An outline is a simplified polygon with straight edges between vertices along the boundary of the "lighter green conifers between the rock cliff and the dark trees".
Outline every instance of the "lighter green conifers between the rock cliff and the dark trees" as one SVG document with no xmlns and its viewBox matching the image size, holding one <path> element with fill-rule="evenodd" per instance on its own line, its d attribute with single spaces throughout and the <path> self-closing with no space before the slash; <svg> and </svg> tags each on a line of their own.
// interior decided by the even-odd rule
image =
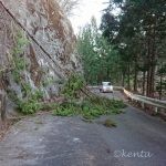
<svg viewBox="0 0 166 166">
<path fill-rule="evenodd" d="M 117 82 L 120 79 L 118 52 L 101 35 L 94 22 L 80 31 L 77 51 L 81 54 L 84 77 L 89 84 L 97 84 L 103 80 Z"/>
</svg>

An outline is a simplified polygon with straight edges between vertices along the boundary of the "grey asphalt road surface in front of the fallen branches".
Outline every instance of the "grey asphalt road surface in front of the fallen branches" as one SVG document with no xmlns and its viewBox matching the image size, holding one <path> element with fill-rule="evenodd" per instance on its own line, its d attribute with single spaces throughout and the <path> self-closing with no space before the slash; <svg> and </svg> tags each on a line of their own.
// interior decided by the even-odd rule
<svg viewBox="0 0 166 166">
<path fill-rule="evenodd" d="M 114 128 L 100 123 L 104 116 L 92 124 L 49 113 L 22 120 L 0 142 L 0 166 L 166 166 L 166 123 L 125 112 L 110 116 Z"/>
</svg>

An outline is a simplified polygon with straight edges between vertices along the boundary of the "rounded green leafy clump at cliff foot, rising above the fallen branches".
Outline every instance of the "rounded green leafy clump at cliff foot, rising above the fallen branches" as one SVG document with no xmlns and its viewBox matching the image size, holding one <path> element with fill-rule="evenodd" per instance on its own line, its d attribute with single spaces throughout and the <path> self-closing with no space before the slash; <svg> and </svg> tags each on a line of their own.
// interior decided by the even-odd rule
<svg viewBox="0 0 166 166">
<path fill-rule="evenodd" d="M 64 83 L 62 94 L 68 98 L 77 97 L 79 91 L 85 85 L 84 77 L 77 73 L 72 74 Z"/>
</svg>

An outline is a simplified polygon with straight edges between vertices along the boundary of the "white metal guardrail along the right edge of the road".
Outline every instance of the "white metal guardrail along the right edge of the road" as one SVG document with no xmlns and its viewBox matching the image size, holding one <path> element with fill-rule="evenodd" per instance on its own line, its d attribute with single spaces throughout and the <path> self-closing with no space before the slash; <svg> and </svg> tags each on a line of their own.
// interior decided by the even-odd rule
<svg viewBox="0 0 166 166">
<path fill-rule="evenodd" d="M 90 89 L 98 89 L 100 86 L 89 86 L 89 87 Z M 160 108 L 166 110 L 166 101 L 160 101 L 157 98 L 152 98 L 152 97 L 134 94 L 134 93 L 125 90 L 122 86 L 114 86 L 114 90 L 123 91 L 123 93 L 132 101 L 141 102 L 143 107 L 144 107 L 144 104 L 149 104 L 149 105 L 155 106 L 156 108 L 160 107 Z"/>
</svg>

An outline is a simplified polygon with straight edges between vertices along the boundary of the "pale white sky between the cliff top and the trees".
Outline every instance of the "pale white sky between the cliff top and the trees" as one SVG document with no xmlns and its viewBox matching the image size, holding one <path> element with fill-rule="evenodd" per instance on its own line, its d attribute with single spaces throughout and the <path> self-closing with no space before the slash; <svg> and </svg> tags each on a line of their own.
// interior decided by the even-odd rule
<svg viewBox="0 0 166 166">
<path fill-rule="evenodd" d="M 79 32 L 80 27 L 84 27 L 87 22 L 91 21 L 91 18 L 94 15 L 96 18 L 97 25 L 100 25 L 102 10 L 107 7 L 103 2 L 108 0 L 80 0 L 77 9 L 75 9 L 74 15 L 70 18 L 75 34 Z"/>
</svg>

